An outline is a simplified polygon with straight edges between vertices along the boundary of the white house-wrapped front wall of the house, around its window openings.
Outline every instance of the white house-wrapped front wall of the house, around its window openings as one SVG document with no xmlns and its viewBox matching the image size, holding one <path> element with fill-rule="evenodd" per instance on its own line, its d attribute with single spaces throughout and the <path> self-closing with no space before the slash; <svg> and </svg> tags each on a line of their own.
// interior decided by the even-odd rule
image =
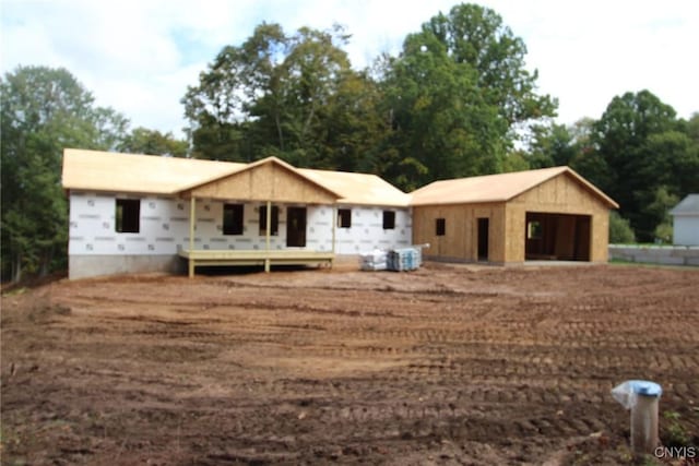
<svg viewBox="0 0 699 466">
<path fill-rule="evenodd" d="M 140 232 L 116 231 L 115 199 L 140 199 Z M 224 201 L 197 200 L 194 249 L 263 250 L 266 238 L 260 235 L 260 202 L 242 203 L 242 235 L 223 235 Z M 286 247 L 286 210 L 303 204 L 279 206 L 279 235 L 271 236 L 271 249 Z M 316 251 L 332 251 L 333 207 L 305 205 L 306 247 Z M 138 196 L 133 194 L 76 192 L 70 193 L 69 261 L 72 278 L 129 272 L 179 270 L 178 251 L 189 249 L 190 201 L 176 198 Z M 396 248 L 410 244 L 412 219 L 407 208 L 395 212 L 395 228 L 382 227 L 382 207 L 343 206 L 352 208 L 352 227 L 336 228 L 335 252 L 357 254 L 374 248 Z M 140 259 L 139 259 L 140 258 Z"/>
</svg>

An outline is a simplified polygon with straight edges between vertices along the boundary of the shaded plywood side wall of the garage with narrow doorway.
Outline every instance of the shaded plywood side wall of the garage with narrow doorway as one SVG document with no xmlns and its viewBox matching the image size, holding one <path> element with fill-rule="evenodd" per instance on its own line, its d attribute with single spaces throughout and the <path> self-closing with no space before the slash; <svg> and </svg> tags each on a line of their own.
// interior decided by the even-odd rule
<svg viewBox="0 0 699 466">
<path fill-rule="evenodd" d="M 437 236 L 437 218 L 445 219 L 443 236 Z M 475 262 L 478 260 L 478 218 L 489 219 L 488 262 L 506 262 L 503 203 L 415 206 L 413 242 L 430 244 L 425 250 L 427 258 Z"/>
</svg>

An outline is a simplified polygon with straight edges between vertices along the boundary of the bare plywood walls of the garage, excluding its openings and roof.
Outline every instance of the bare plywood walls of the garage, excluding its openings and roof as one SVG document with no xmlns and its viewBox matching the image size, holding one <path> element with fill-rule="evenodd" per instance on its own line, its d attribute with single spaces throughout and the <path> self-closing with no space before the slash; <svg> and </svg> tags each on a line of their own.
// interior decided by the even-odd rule
<svg viewBox="0 0 699 466">
<path fill-rule="evenodd" d="M 477 219 L 489 218 L 488 262 L 521 263 L 525 259 L 526 213 L 556 216 L 556 255 L 573 253 L 576 217 L 590 217 L 590 261 L 606 262 L 609 211 L 603 200 L 572 176 L 562 172 L 508 202 L 413 207 L 413 242 L 429 242 L 425 255 L 453 261 L 477 261 Z M 570 217 L 568 217 L 570 216 Z M 445 218 L 446 234 L 437 236 L 437 218 Z M 587 255 L 588 244 L 579 250 Z"/>
</svg>

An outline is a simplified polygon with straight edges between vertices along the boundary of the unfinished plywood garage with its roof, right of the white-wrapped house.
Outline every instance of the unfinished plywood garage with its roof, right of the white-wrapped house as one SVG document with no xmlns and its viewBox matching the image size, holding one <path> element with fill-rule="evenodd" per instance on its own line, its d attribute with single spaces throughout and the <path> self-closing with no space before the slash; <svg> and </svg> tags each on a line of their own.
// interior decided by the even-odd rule
<svg viewBox="0 0 699 466">
<path fill-rule="evenodd" d="M 606 262 L 618 204 L 569 167 L 435 181 L 412 193 L 428 259 Z"/>
</svg>

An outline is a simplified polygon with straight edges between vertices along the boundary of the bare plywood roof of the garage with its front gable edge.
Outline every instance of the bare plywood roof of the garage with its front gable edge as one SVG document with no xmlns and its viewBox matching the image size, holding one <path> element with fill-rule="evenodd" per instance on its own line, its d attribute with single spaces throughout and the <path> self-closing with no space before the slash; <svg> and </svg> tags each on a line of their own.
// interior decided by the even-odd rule
<svg viewBox="0 0 699 466">
<path fill-rule="evenodd" d="M 412 205 L 507 202 L 564 174 L 570 176 L 574 182 L 582 184 L 608 207 L 618 207 L 616 202 L 569 167 L 552 167 L 435 181 L 413 191 Z"/>
</svg>

